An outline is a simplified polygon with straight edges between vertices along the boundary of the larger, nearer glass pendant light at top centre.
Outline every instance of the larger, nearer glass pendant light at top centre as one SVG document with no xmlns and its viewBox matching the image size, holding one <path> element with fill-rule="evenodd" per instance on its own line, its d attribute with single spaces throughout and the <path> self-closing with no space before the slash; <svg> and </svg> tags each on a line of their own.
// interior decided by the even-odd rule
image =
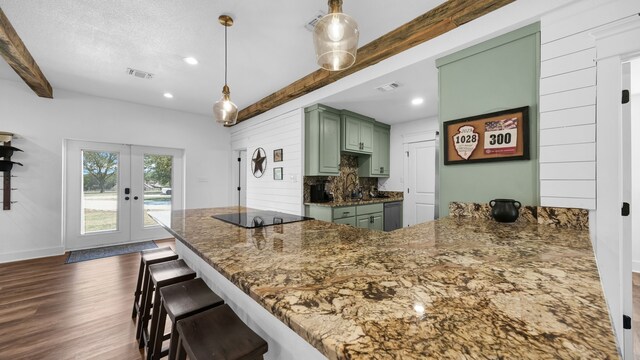
<svg viewBox="0 0 640 360">
<path fill-rule="evenodd" d="M 323 69 L 344 70 L 356 62 L 358 24 L 342 12 L 342 0 L 329 0 L 329 13 L 313 30 L 316 61 Z"/>
</svg>

